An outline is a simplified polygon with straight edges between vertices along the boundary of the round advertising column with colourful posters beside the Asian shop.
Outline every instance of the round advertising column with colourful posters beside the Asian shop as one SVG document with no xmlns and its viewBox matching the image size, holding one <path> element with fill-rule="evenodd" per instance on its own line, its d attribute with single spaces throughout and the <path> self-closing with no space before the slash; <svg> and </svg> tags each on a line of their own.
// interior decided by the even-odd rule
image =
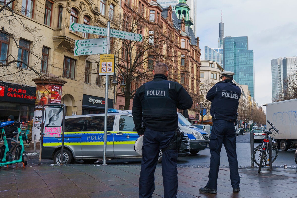
<svg viewBox="0 0 297 198">
<path fill-rule="evenodd" d="M 34 134 L 36 141 L 40 141 L 42 105 L 44 104 L 61 104 L 62 86 L 67 83 L 53 74 L 45 75 L 41 78 L 32 79 L 36 84 L 36 100 L 32 127 L 32 140 Z"/>
</svg>

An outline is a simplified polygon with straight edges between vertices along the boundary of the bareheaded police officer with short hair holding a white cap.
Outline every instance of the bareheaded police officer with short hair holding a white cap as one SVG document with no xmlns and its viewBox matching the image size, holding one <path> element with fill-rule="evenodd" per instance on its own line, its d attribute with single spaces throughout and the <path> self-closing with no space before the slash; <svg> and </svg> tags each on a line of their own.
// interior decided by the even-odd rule
<svg viewBox="0 0 297 198">
<path fill-rule="evenodd" d="M 189 109 L 193 101 L 177 82 L 168 81 L 168 66 L 157 63 L 154 79 L 141 85 L 133 99 L 132 114 L 138 135 L 143 135 L 139 198 L 150 198 L 155 190 L 154 172 L 160 149 L 166 150 L 178 128 L 177 109 Z M 146 129 L 141 127 L 142 120 Z M 162 156 L 165 198 L 176 198 L 178 150 L 168 149 Z"/>
</svg>

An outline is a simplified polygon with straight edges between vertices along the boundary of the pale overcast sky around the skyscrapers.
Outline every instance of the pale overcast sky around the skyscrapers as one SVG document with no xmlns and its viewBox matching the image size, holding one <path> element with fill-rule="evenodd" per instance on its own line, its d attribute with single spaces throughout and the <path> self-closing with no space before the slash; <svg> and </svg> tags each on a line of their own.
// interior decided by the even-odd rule
<svg viewBox="0 0 297 198">
<path fill-rule="evenodd" d="M 249 37 L 254 51 L 255 100 L 271 103 L 271 59 L 297 56 L 297 0 L 199 0 L 196 34 L 204 46 L 217 48 L 219 22 L 225 37 Z M 263 107 L 264 110 L 265 107 Z"/>
</svg>

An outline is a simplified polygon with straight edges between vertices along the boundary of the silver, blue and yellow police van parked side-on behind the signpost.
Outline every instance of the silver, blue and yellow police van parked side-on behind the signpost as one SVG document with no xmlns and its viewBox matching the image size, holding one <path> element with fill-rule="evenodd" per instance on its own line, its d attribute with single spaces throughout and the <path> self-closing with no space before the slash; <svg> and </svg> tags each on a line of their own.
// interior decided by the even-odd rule
<svg viewBox="0 0 297 198">
<path fill-rule="evenodd" d="M 66 116 L 64 129 L 63 164 L 70 164 L 75 159 L 86 163 L 94 163 L 103 157 L 104 147 L 104 118 L 105 114 Z M 139 157 L 134 150 L 136 139 L 139 137 L 135 128 L 132 112 L 108 110 L 107 118 L 107 158 Z M 41 139 L 41 159 L 53 159 L 54 164 L 60 164 L 61 134 L 44 133 Z M 179 156 L 190 152 L 190 143 L 184 137 L 179 149 Z M 162 160 L 160 151 L 158 161 Z"/>
</svg>

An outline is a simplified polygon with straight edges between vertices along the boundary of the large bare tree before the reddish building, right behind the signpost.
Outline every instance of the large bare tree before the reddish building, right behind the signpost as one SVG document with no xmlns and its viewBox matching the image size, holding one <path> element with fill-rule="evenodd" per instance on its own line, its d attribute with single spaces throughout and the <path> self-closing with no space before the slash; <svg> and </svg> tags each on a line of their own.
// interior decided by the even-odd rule
<svg viewBox="0 0 297 198">
<path fill-rule="evenodd" d="M 129 110 L 130 100 L 134 97 L 137 88 L 153 78 L 152 69 L 156 62 L 172 61 L 172 32 L 162 31 L 158 24 L 149 23 L 134 8 L 123 17 L 111 20 L 114 29 L 133 32 L 143 35 L 143 41 L 137 42 L 128 39 L 114 39 L 111 52 L 116 55 L 116 71 L 124 77 L 126 88 L 123 88 L 125 110 Z M 168 53 L 167 53 L 168 52 Z M 166 54 L 166 55 L 165 55 Z M 168 66 L 170 66 L 168 64 Z M 171 71 L 171 68 L 168 68 Z M 169 78 L 175 75 L 170 73 Z"/>
</svg>

